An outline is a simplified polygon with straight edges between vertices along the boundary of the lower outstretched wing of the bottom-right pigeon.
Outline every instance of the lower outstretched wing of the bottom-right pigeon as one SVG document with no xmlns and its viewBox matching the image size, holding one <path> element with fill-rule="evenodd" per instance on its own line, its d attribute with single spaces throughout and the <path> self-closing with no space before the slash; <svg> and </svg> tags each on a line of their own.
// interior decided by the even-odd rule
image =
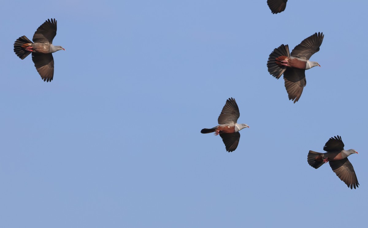
<svg viewBox="0 0 368 228">
<path fill-rule="evenodd" d="M 351 165 L 347 158 L 330 161 L 330 166 L 333 172 L 335 172 L 340 180 L 345 182 L 350 189 L 353 189 L 353 187 L 354 189 L 359 187 L 357 175 L 355 175 L 353 165 Z"/>
</svg>

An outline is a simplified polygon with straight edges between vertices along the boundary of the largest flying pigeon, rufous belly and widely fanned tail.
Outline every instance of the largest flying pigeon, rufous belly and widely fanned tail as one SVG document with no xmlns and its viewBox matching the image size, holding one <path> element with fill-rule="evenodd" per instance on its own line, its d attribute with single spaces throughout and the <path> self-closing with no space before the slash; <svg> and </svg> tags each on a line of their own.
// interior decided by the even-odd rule
<svg viewBox="0 0 368 228">
<path fill-rule="evenodd" d="M 289 100 L 293 100 L 294 103 L 299 100 L 303 87 L 307 84 L 305 70 L 320 66 L 318 62 L 309 61 L 309 58 L 319 51 L 323 36 L 322 32 L 311 35 L 297 45 L 291 54 L 289 53 L 289 46 L 282 44 L 275 48 L 268 58 L 268 72 L 276 79 L 284 74 Z"/>
</svg>

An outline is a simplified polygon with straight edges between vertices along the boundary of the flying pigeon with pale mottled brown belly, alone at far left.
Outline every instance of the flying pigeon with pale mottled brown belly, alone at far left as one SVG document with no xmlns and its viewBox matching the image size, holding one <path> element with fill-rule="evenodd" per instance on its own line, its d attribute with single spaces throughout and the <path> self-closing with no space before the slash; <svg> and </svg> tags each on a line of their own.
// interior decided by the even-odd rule
<svg viewBox="0 0 368 228">
<path fill-rule="evenodd" d="M 64 50 L 61 46 L 54 46 L 52 40 L 56 36 L 56 20 L 47 19 L 33 35 L 33 42 L 26 36 L 14 42 L 14 52 L 24 59 L 32 53 L 32 60 L 43 81 L 51 82 L 54 76 L 54 58 L 52 53 Z"/>
</svg>

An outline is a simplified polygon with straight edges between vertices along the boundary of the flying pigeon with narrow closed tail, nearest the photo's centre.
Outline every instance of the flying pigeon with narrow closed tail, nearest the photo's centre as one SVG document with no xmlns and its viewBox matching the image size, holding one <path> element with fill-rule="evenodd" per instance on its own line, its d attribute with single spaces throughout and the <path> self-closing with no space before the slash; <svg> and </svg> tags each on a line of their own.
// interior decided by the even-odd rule
<svg viewBox="0 0 368 228">
<path fill-rule="evenodd" d="M 226 151 L 233 152 L 238 147 L 240 133 L 243 128 L 249 128 L 247 124 L 237 124 L 240 116 L 238 105 L 232 97 L 226 100 L 225 106 L 222 108 L 221 114 L 217 121 L 220 125 L 213 128 L 204 128 L 201 133 L 215 132 L 215 135 L 220 135 L 225 144 Z"/>
</svg>

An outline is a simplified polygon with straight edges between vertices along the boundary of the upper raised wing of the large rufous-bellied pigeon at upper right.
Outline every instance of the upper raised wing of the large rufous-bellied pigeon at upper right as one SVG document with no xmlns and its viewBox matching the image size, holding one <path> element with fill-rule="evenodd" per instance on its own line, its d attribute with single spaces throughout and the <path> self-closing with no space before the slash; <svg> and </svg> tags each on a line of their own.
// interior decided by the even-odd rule
<svg viewBox="0 0 368 228">
<path fill-rule="evenodd" d="M 322 32 L 318 34 L 315 33 L 310 37 L 304 39 L 299 45 L 297 45 L 291 52 L 291 56 L 298 57 L 300 59 L 308 60 L 311 56 L 319 51 L 319 46 L 321 46 L 323 41 Z"/>
</svg>

